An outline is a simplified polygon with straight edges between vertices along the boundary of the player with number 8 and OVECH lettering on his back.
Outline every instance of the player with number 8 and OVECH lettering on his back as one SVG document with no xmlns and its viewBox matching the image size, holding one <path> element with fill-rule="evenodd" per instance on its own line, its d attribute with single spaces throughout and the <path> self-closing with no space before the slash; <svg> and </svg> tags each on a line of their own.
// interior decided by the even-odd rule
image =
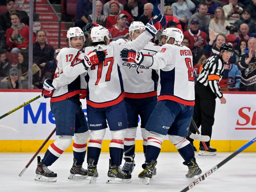
<svg viewBox="0 0 256 192">
<path fill-rule="evenodd" d="M 186 177 L 192 178 L 202 173 L 196 163 L 192 144 L 186 139 L 195 104 L 192 53 L 189 48 L 180 45 L 184 37 L 180 29 L 167 28 L 163 35 L 166 36 L 166 44 L 153 56 L 143 56 L 134 50 L 121 51 L 124 61 L 160 69 L 158 101 L 146 125 L 150 131 L 146 163 L 139 174 L 144 184 L 148 184 L 152 178 L 166 134 L 184 159 L 183 164 L 188 166 Z"/>
</svg>

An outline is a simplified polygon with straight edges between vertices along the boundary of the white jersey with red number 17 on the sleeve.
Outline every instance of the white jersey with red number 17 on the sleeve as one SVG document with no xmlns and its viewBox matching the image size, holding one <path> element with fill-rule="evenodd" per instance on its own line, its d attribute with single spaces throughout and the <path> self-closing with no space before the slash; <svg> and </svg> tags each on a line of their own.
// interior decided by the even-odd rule
<svg viewBox="0 0 256 192">
<path fill-rule="evenodd" d="M 80 98 L 85 98 L 87 83 L 84 77 L 86 70 L 82 63 L 84 55 L 82 51 L 72 47 L 60 50 L 56 58 L 57 68 L 52 81 L 55 91 L 51 102 L 62 101 L 77 94 L 80 94 Z M 74 67 L 78 65 L 81 69 Z"/>
</svg>

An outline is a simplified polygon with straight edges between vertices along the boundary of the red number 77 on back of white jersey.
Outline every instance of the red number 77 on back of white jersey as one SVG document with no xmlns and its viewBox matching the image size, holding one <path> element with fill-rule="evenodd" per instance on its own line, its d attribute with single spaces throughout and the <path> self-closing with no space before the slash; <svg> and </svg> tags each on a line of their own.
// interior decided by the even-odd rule
<svg viewBox="0 0 256 192">
<path fill-rule="evenodd" d="M 95 82 L 95 85 L 99 84 L 101 79 L 101 73 L 102 73 L 103 67 L 105 66 L 108 66 L 105 81 L 110 81 L 113 64 L 114 64 L 113 57 L 106 58 L 102 63 L 96 64 L 98 65 L 98 71 L 97 71 L 97 81 Z M 94 70 L 94 69 L 96 69 L 95 65 L 92 65 L 91 70 Z"/>
</svg>

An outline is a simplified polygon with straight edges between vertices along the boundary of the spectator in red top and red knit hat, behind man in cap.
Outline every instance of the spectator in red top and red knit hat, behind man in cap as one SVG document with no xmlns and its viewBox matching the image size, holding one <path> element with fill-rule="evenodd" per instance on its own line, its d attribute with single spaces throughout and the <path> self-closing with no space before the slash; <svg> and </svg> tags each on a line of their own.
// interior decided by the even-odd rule
<svg viewBox="0 0 256 192">
<path fill-rule="evenodd" d="M 130 24 L 133 21 L 132 16 L 127 11 L 120 11 L 119 10 L 119 2 L 117 0 L 111 0 L 109 7 L 111 9 L 111 13 L 107 17 L 107 24 L 106 28 L 110 29 L 111 27 L 114 27 L 117 23 L 117 16 L 120 14 L 125 14 L 128 16 L 127 22 Z"/>
</svg>

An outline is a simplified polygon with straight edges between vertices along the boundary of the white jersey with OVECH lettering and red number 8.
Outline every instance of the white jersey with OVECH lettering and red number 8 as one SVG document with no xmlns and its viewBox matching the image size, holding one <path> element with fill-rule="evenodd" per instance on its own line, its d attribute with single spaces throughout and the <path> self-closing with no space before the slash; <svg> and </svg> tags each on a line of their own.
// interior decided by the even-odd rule
<svg viewBox="0 0 256 192">
<path fill-rule="evenodd" d="M 141 64 L 160 69 L 158 101 L 195 105 L 192 53 L 188 47 L 165 44 L 155 55 L 144 56 Z"/>
</svg>

